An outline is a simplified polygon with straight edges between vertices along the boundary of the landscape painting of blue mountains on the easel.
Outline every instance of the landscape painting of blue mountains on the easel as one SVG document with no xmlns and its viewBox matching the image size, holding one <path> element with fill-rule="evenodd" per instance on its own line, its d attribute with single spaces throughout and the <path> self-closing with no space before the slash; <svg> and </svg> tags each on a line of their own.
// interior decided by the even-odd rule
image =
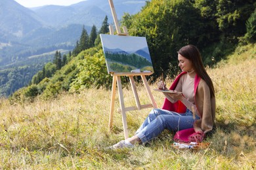
<svg viewBox="0 0 256 170">
<path fill-rule="evenodd" d="M 100 34 L 108 73 L 154 73 L 146 37 Z"/>
</svg>

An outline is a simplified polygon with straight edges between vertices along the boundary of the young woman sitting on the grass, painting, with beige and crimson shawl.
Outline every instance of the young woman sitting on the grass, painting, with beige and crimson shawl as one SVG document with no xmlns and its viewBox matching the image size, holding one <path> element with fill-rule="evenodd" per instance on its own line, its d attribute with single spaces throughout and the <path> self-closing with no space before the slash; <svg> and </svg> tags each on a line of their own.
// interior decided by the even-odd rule
<svg viewBox="0 0 256 170">
<path fill-rule="evenodd" d="M 143 124 L 129 139 L 120 141 L 113 148 L 133 147 L 135 143 L 146 143 L 157 137 L 164 129 L 186 133 L 184 142 L 201 142 L 205 133 L 213 129 L 215 120 L 215 91 L 213 82 L 203 67 L 200 52 L 196 46 L 182 47 L 178 52 L 182 73 L 175 78 L 170 90 L 165 93 L 162 109 L 153 109 Z M 158 88 L 167 90 L 163 82 Z M 182 92 L 182 93 L 179 93 Z M 189 131 L 187 131 L 189 130 Z M 184 133 L 182 133 L 184 131 Z"/>
</svg>

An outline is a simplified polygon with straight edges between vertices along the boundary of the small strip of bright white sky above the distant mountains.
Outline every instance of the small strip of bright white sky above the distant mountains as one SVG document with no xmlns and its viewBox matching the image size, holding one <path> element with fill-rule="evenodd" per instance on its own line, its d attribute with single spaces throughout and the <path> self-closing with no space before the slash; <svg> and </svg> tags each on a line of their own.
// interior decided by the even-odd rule
<svg viewBox="0 0 256 170">
<path fill-rule="evenodd" d="M 68 6 L 75 3 L 79 3 L 81 1 L 86 0 L 15 0 L 20 5 L 32 8 L 32 7 L 41 7 L 44 5 L 62 5 L 62 6 Z"/>
</svg>

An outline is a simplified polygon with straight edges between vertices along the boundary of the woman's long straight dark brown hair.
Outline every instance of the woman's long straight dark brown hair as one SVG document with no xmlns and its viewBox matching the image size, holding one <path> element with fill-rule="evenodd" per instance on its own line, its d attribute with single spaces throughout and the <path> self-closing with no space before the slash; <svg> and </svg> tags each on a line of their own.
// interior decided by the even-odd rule
<svg viewBox="0 0 256 170">
<path fill-rule="evenodd" d="M 187 46 L 183 46 L 178 51 L 178 53 L 181 54 L 181 56 L 183 56 L 184 58 L 192 61 L 192 64 L 194 65 L 194 71 L 196 71 L 196 74 L 200 76 L 203 80 L 205 80 L 206 84 L 209 86 L 211 97 L 215 97 L 213 82 L 207 74 L 205 67 L 203 67 L 203 61 L 198 48 L 194 45 L 189 44 Z"/>
</svg>

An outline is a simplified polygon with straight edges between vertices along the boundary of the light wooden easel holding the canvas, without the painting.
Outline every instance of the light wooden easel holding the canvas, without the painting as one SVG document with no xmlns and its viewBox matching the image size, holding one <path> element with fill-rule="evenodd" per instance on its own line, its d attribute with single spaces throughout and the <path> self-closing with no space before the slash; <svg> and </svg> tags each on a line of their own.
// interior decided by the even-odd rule
<svg viewBox="0 0 256 170">
<path fill-rule="evenodd" d="M 116 16 L 116 10 L 114 8 L 114 4 L 112 0 L 108 0 L 110 3 L 110 9 L 112 12 L 112 16 L 114 18 L 114 23 L 116 25 L 116 31 L 117 31 L 117 35 L 123 35 L 123 36 L 127 36 L 128 31 L 127 28 L 124 26 L 123 27 L 123 33 L 121 33 L 118 21 L 117 21 L 117 16 Z M 110 25 L 110 35 L 114 35 L 114 29 L 112 27 L 112 25 Z M 121 109 L 119 109 L 119 112 L 121 112 L 121 116 L 122 116 L 122 121 L 123 121 L 123 132 L 125 135 L 125 139 L 128 138 L 128 127 L 127 127 L 127 120 L 126 120 L 126 111 L 130 111 L 130 110 L 140 110 L 140 109 L 146 109 L 149 107 L 154 107 L 155 109 L 158 108 L 158 106 L 156 105 L 156 102 L 154 100 L 154 97 L 150 91 L 150 87 L 148 86 L 148 81 L 146 80 L 146 76 L 147 75 L 152 75 L 152 73 L 112 73 L 111 74 L 113 76 L 113 82 L 112 82 L 112 96 L 111 96 L 111 104 L 110 104 L 110 120 L 109 120 L 109 124 L 108 127 L 111 129 L 112 128 L 112 124 L 113 124 L 113 116 L 114 116 L 114 101 L 115 101 L 115 96 L 116 96 L 116 84 L 117 84 L 117 88 L 118 88 L 118 92 L 119 92 L 119 103 L 121 106 Z M 122 90 L 122 86 L 121 86 L 121 76 L 129 76 L 129 80 L 131 82 L 131 87 L 133 90 L 133 95 L 135 96 L 135 102 L 136 102 L 136 107 L 125 107 L 124 101 L 123 101 L 123 90 Z M 142 82 L 144 84 L 144 87 L 146 88 L 146 91 L 148 92 L 148 95 L 150 97 L 150 100 L 152 102 L 152 104 L 147 104 L 147 105 L 140 105 L 140 101 L 139 101 L 139 96 L 137 93 L 137 89 L 135 86 L 135 80 L 133 78 L 133 76 L 141 76 L 142 78 Z"/>
</svg>

